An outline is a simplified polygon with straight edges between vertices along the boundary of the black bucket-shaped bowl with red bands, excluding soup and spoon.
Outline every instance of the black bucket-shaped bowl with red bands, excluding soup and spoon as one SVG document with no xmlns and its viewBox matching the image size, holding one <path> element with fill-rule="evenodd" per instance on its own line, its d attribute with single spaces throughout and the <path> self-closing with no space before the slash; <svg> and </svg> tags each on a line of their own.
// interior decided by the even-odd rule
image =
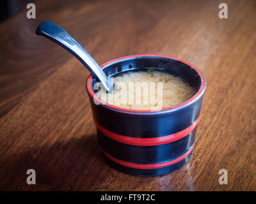
<svg viewBox="0 0 256 204">
<path fill-rule="evenodd" d="M 132 55 L 102 64 L 115 77 L 149 68 L 184 78 L 196 94 L 184 103 L 161 110 L 130 110 L 104 103 L 90 75 L 86 89 L 102 153 L 113 168 L 137 176 L 170 173 L 186 164 L 195 146 L 196 128 L 205 91 L 205 78 L 195 66 L 172 57 Z"/>
</svg>

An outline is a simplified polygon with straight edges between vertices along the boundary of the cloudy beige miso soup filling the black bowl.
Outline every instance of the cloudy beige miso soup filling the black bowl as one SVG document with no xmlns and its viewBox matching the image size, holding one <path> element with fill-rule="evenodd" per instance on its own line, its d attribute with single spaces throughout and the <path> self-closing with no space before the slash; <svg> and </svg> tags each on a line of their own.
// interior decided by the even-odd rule
<svg viewBox="0 0 256 204">
<path fill-rule="evenodd" d="M 113 78 L 115 88 L 96 96 L 102 101 L 132 110 L 158 110 L 179 105 L 191 98 L 196 89 L 180 77 L 148 69 L 128 71 Z"/>
</svg>

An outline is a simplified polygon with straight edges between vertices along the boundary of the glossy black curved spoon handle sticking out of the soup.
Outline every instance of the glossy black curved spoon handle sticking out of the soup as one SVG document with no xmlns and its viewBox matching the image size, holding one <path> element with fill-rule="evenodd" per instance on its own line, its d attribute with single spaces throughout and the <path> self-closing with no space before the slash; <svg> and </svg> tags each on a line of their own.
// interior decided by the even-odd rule
<svg viewBox="0 0 256 204">
<path fill-rule="evenodd" d="M 102 71 L 99 64 L 95 62 L 91 55 L 88 54 L 88 52 L 86 52 L 86 50 L 84 50 L 84 48 L 81 47 L 81 45 L 79 45 L 77 41 L 70 36 L 70 34 L 61 29 L 61 27 L 53 24 L 52 22 L 44 21 L 36 29 L 36 34 L 38 36 L 44 36 L 68 50 L 68 52 L 82 62 L 90 73 L 92 73 L 93 77 L 97 78 L 99 82 L 102 82 L 103 88 L 105 88 L 106 91 L 111 89 L 111 80 L 108 80 L 108 77 Z"/>
</svg>

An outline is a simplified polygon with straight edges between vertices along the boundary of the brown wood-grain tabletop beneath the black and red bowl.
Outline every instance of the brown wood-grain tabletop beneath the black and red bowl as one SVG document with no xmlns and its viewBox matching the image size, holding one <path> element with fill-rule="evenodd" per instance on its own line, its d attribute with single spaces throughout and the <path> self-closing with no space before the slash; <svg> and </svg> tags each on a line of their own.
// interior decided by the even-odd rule
<svg viewBox="0 0 256 204">
<path fill-rule="evenodd" d="M 256 190 L 255 1 L 35 1 L 0 24 L 0 189 L 21 191 Z M 63 27 L 99 64 L 132 54 L 183 59 L 207 88 L 189 163 L 161 177 L 134 177 L 102 158 L 85 80 L 72 55 L 35 35 Z M 36 185 L 26 171 L 36 171 Z M 228 171 L 220 185 L 219 171 Z"/>
</svg>

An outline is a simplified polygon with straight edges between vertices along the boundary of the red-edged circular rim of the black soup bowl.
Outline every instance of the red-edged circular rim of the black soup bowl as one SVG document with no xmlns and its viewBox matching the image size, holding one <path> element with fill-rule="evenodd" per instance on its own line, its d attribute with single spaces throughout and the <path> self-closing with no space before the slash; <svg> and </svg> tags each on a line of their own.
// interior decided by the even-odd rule
<svg viewBox="0 0 256 204">
<path fill-rule="evenodd" d="M 138 57 L 161 57 L 161 58 L 166 58 L 166 59 L 173 59 L 175 61 L 179 61 L 184 64 L 187 64 L 188 66 L 191 66 L 191 68 L 195 69 L 196 73 L 198 73 L 198 75 L 200 76 L 200 80 L 201 80 L 200 88 L 191 98 L 189 98 L 188 100 L 184 101 L 183 103 L 180 103 L 175 106 L 170 106 L 168 108 L 162 108 L 162 109 L 158 109 L 158 110 L 133 110 L 133 109 L 121 108 L 121 107 L 118 107 L 115 105 L 110 105 L 110 104 L 106 103 L 105 101 L 102 101 L 101 99 L 99 99 L 92 90 L 91 84 L 92 84 L 93 76 L 92 76 L 92 74 L 90 74 L 86 80 L 86 89 L 87 89 L 89 96 L 91 98 L 95 99 L 99 103 L 100 106 L 104 106 L 105 108 L 108 108 L 110 110 L 114 110 L 114 111 L 122 112 L 122 113 L 132 113 L 132 114 L 144 115 L 144 114 L 152 114 L 152 113 L 154 114 L 154 113 L 170 112 L 170 111 L 178 110 L 180 108 L 184 108 L 185 106 L 188 106 L 191 103 L 193 103 L 194 101 L 196 101 L 196 99 L 200 98 L 200 96 L 202 96 L 204 94 L 206 83 L 205 83 L 204 75 L 201 73 L 201 71 L 199 71 L 199 69 L 197 69 L 192 64 L 189 64 L 188 62 L 182 61 L 175 57 L 168 57 L 168 56 L 164 56 L 164 55 L 153 55 L 153 54 L 128 55 L 125 57 L 119 57 L 116 59 L 112 59 L 111 61 L 105 62 L 104 64 L 100 65 L 100 68 L 104 68 L 104 66 L 106 66 L 110 63 L 113 63 L 113 62 L 122 61 L 123 59 L 129 59 L 129 58 L 132 59 L 132 58 L 138 58 Z"/>
</svg>

